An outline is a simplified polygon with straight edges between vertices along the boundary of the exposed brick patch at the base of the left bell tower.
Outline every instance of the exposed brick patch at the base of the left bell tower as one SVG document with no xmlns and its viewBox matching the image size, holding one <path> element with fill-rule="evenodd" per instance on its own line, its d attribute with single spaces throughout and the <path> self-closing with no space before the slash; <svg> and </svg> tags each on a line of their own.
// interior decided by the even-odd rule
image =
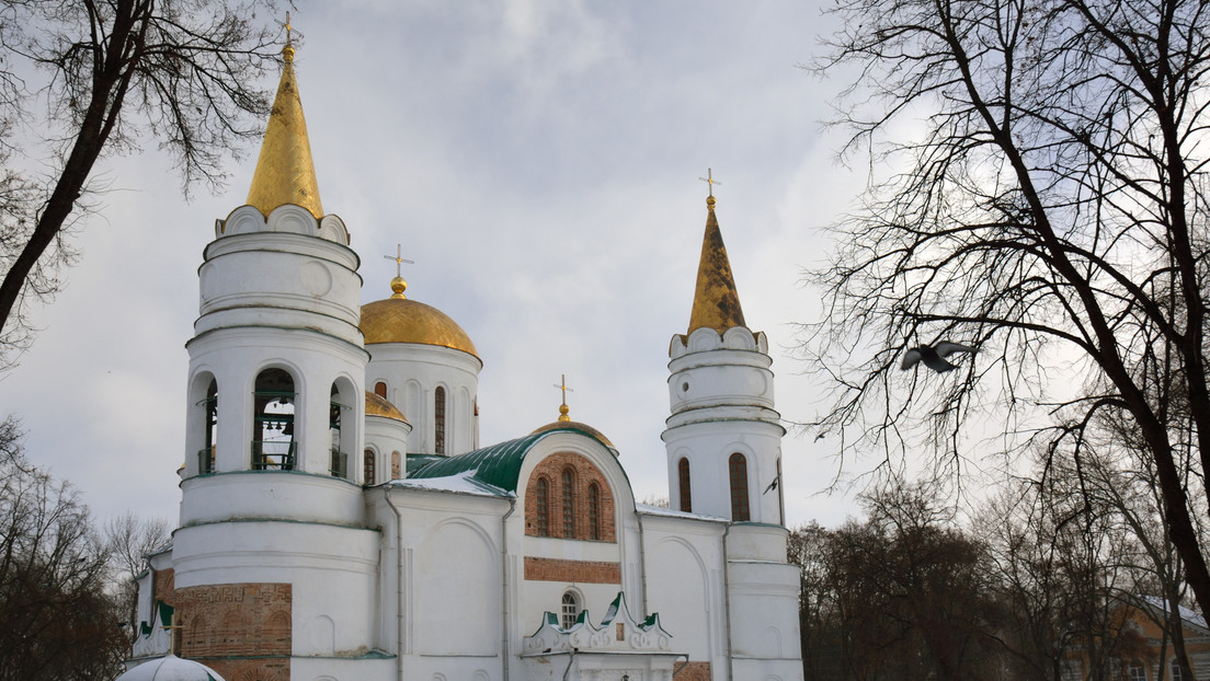
<svg viewBox="0 0 1210 681">
<path fill-rule="evenodd" d="M 227 681 L 289 681 L 290 584 L 211 584 L 174 594 L 185 629 L 180 657 L 204 662 Z M 248 658 L 257 659 L 231 659 Z"/>
</svg>

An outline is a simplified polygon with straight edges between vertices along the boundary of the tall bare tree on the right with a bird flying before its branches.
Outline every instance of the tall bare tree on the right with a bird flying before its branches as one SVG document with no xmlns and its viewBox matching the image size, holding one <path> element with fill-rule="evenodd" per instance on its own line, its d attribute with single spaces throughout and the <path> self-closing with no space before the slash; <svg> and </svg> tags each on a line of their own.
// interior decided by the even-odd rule
<svg viewBox="0 0 1210 681">
<path fill-rule="evenodd" d="M 1210 2 L 839 0 L 836 12 L 818 68 L 860 69 L 840 122 L 851 150 L 887 165 L 818 273 L 830 307 L 808 347 L 837 386 L 823 426 L 855 434 L 848 451 L 888 457 L 927 440 L 951 468 L 989 449 L 1013 467 L 1041 443 L 1078 477 L 1097 416 L 1128 420 L 1210 612 L 1194 525 L 1210 510 Z M 898 369 L 905 348 L 943 339 L 979 352 L 949 374 Z M 1186 396 L 1187 420 L 1157 380 Z M 1009 435 L 980 445 L 989 432 Z"/>
</svg>

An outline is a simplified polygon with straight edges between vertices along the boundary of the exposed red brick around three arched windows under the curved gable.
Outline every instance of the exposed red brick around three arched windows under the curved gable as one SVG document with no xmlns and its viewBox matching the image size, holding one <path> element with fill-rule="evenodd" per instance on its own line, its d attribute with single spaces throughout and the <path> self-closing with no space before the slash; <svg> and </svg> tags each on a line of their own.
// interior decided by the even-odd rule
<svg viewBox="0 0 1210 681">
<path fill-rule="evenodd" d="M 571 468 L 575 472 L 575 537 L 576 539 L 588 539 L 588 486 L 597 483 L 600 490 L 600 508 L 598 520 L 600 523 L 601 542 L 616 542 L 613 529 L 613 492 L 605 481 L 605 475 L 595 466 L 578 454 L 560 451 L 542 460 L 534 472 L 530 473 L 525 483 L 525 533 L 536 537 L 537 533 L 537 479 L 546 478 L 549 485 L 549 497 L 547 498 L 548 521 L 551 537 L 563 537 L 563 471 Z"/>
</svg>

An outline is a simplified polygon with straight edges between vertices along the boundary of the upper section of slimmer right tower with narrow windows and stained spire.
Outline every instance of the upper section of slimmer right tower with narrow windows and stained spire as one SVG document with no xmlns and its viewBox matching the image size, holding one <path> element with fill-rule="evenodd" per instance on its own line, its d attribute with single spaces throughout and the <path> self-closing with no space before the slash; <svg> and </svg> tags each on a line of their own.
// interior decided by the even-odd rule
<svg viewBox="0 0 1210 681">
<path fill-rule="evenodd" d="M 703 178 L 704 179 L 704 178 Z M 688 330 L 668 350 L 672 415 L 663 440 L 674 509 L 733 521 L 784 524 L 782 427 L 772 358 L 736 292 L 714 214 L 713 178 Z"/>
</svg>

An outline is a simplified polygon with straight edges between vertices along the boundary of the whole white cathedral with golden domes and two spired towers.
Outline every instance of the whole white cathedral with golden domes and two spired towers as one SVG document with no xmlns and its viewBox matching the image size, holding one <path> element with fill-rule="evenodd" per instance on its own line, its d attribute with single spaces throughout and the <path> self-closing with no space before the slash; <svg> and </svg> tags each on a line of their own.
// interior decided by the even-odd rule
<svg viewBox="0 0 1210 681">
<path fill-rule="evenodd" d="M 402 278 L 359 305 L 293 56 L 198 271 L 180 524 L 139 577 L 123 679 L 801 680 L 785 431 L 713 195 L 669 348 L 672 509 L 644 506 L 565 402 L 480 445 L 479 351 Z"/>
</svg>

